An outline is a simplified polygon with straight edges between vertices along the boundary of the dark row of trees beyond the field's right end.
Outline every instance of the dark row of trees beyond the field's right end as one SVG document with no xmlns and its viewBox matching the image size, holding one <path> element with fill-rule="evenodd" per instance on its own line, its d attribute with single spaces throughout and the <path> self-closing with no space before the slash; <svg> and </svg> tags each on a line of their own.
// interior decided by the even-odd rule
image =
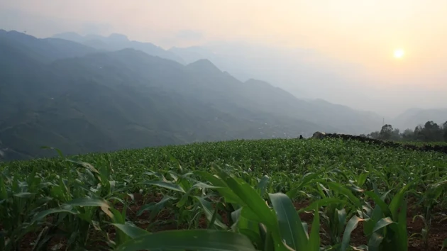
<svg viewBox="0 0 447 251">
<path fill-rule="evenodd" d="M 392 125 L 387 124 L 383 125 L 380 131 L 361 136 L 378 140 L 447 142 L 447 121 L 442 125 L 427 121 L 424 126 L 418 125 L 414 130 L 406 129 L 402 133 L 399 128 L 393 128 Z"/>
</svg>

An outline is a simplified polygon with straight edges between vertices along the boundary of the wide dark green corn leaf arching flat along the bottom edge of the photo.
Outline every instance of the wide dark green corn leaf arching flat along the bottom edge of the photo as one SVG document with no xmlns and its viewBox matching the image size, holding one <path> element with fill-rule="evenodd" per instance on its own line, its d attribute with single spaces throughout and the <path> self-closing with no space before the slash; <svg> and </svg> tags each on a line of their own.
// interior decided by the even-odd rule
<svg viewBox="0 0 447 251">
<path fill-rule="evenodd" d="M 250 240 L 239 233 L 220 230 L 167 230 L 140 235 L 116 248 L 138 250 L 255 251 Z"/>
</svg>

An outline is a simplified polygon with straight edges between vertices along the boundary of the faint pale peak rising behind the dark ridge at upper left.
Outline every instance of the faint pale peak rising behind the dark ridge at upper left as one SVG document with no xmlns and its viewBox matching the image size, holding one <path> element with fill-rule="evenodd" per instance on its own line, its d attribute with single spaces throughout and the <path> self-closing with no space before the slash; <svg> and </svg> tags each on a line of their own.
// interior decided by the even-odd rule
<svg viewBox="0 0 447 251">
<path fill-rule="evenodd" d="M 184 63 L 181 57 L 175 55 L 172 52 L 167 50 L 163 50 L 152 43 L 141 43 L 138 41 L 128 40 L 126 35 L 113 33 L 109 35 L 109 37 L 104 37 L 101 35 L 79 35 L 77 33 L 60 33 L 57 35 L 53 35 L 53 38 L 61 38 L 65 40 L 75 41 L 77 43 L 82 43 L 84 45 L 88 45 L 92 48 L 96 48 L 97 50 L 123 50 L 126 48 L 133 48 L 136 50 L 141 50 L 148 55 L 153 55 L 157 57 L 162 57 L 168 60 L 175 60 L 180 63 Z"/>
</svg>

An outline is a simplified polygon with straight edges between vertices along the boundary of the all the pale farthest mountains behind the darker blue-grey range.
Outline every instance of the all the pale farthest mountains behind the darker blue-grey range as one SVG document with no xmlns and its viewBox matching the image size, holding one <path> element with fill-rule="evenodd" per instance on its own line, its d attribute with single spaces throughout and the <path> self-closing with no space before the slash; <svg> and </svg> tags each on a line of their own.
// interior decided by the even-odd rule
<svg viewBox="0 0 447 251">
<path fill-rule="evenodd" d="M 359 96 L 360 91 L 356 91 L 358 85 L 346 83 L 346 79 L 338 76 L 337 72 L 355 71 L 355 65 L 327 65 L 324 58 L 319 57 L 312 50 L 279 50 L 267 46 L 250 45 L 245 43 L 208 43 L 202 46 L 192 46 L 188 48 L 170 48 L 163 50 L 151 43 L 140 43 L 129 41 L 126 35 L 111 34 L 109 37 L 100 35 L 79 35 L 77 33 L 61 33 L 53 38 L 64 38 L 78 43 L 92 44 L 92 40 L 103 41 L 104 44 L 119 45 L 115 48 L 97 46 L 99 50 L 113 50 L 122 48 L 134 48 L 141 50 L 141 44 L 147 44 L 151 50 L 143 50 L 149 55 L 159 56 L 166 59 L 175 60 L 182 64 L 189 64 L 198 60 L 210 60 L 219 69 L 224 69 L 236 79 L 245 82 L 253 78 L 267 79 L 271 82 L 281 82 L 289 86 L 294 96 L 300 97 L 302 101 L 311 103 L 312 107 L 317 107 L 319 111 L 326 111 L 321 117 L 325 118 L 327 114 L 336 114 L 336 118 L 331 118 L 334 126 L 349 128 L 351 132 L 363 131 L 365 124 L 373 121 L 372 125 L 380 128 L 380 121 L 383 117 L 373 112 L 355 111 L 348 106 L 332 104 L 323 99 L 307 99 L 308 96 L 345 96 L 346 93 L 354 94 L 356 102 L 358 100 L 367 101 L 368 96 Z M 319 62 L 319 65 L 315 63 Z M 328 67 L 321 67 L 321 64 Z M 280 67 L 277 67 L 280 66 Z M 324 70 L 326 69 L 326 70 Z M 327 69 L 333 69 L 328 71 Z M 292 76 L 286 72 L 294 72 Z M 331 82 L 326 79 L 330 77 Z M 305 80 L 304 80 L 305 79 Z M 309 88 L 311 87 L 311 88 Z M 312 91 L 314 90 L 314 91 Z M 300 104 L 302 106 L 302 104 Z M 414 111 L 417 111 L 416 113 Z M 421 109 L 412 108 L 397 117 L 385 116 L 387 123 L 392 123 L 395 128 L 404 130 L 414 128 L 416 125 L 426 121 L 436 121 L 441 123 L 447 116 L 447 108 Z M 328 120 L 321 121 L 320 116 L 316 116 L 314 122 L 328 123 Z M 353 118 L 359 117 L 358 121 Z M 338 119 L 346 121 L 339 123 Z M 370 126 L 368 128 L 373 128 Z"/>
</svg>

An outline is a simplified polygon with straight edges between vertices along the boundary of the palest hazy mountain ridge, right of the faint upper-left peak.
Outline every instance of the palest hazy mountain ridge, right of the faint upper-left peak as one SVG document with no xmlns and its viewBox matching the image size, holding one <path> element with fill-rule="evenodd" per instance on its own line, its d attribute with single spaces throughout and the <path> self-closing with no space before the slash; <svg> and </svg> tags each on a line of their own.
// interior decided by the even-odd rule
<svg viewBox="0 0 447 251">
<path fill-rule="evenodd" d="M 219 69 L 241 81 L 263 79 L 282 87 L 300 99 L 336 99 L 346 97 L 346 91 L 356 91 L 358 85 L 342 77 L 343 72 L 359 72 L 355 65 L 343 65 L 321 57 L 312 50 L 282 50 L 264 45 L 214 42 L 189 48 L 171 48 L 187 63 L 209 59 Z M 329 80 L 330 79 L 330 80 Z M 341 95 L 343 94 L 343 95 Z M 363 97 L 365 100 L 367 97 Z"/>
</svg>

